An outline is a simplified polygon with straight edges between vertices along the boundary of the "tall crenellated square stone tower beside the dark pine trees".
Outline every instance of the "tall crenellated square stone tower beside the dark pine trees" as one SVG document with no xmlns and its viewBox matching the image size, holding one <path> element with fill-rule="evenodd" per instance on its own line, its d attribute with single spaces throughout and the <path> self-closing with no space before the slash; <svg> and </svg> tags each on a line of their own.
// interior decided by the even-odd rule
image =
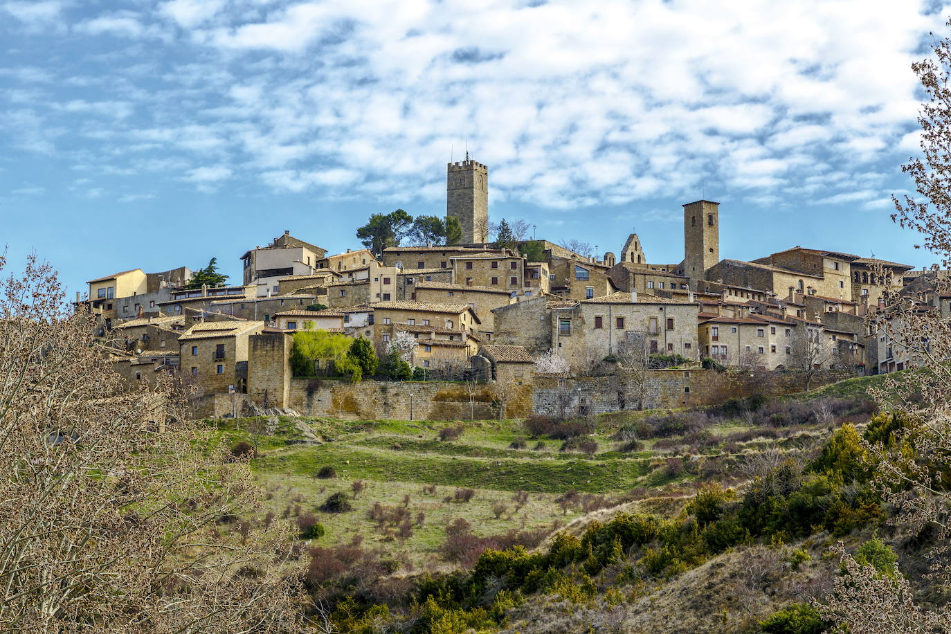
<svg viewBox="0 0 951 634">
<path fill-rule="evenodd" d="M 469 159 L 446 167 L 446 216 L 462 225 L 462 243 L 489 241 L 489 168 Z"/>
</svg>

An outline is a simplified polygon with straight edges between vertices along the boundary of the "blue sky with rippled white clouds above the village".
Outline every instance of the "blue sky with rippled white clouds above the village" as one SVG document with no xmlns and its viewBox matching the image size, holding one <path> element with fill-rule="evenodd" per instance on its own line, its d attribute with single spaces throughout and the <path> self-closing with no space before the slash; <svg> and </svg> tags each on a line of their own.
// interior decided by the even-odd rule
<svg viewBox="0 0 951 634">
<path fill-rule="evenodd" d="M 490 216 L 683 259 L 795 245 L 921 266 L 911 183 L 926 0 L 0 0 L 0 248 L 70 293 L 199 268 L 284 230 L 359 248 L 372 213 L 445 213 L 446 163 Z"/>
</svg>

